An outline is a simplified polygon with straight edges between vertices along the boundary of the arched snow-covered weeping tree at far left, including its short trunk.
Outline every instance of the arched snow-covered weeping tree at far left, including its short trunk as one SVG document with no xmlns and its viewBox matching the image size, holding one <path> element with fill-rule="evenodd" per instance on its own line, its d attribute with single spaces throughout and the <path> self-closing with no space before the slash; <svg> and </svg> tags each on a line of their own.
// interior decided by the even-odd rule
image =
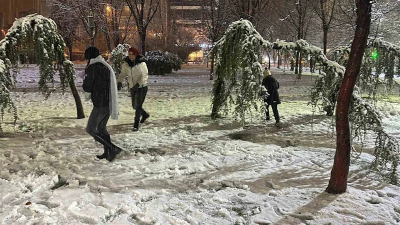
<svg viewBox="0 0 400 225">
<path fill-rule="evenodd" d="M 34 46 L 39 65 L 39 90 L 47 98 L 53 91 L 47 83 L 50 82 L 53 86 L 54 74 L 58 71 L 62 90 L 69 85 L 75 98 L 77 117 L 83 118 L 83 107 L 74 83 L 75 69 L 73 63 L 64 55 L 65 43 L 57 32 L 55 22 L 38 14 L 16 19 L 5 37 L 0 40 L 1 114 L 8 107 L 14 111 L 14 119 L 16 119 L 16 109 L 9 97 L 8 89 L 15 87 L 16 76 L 19 72 L 19 47 L 30 44 Z M 10 69 L 12 69 L 12 75 Z"/>
</svg>

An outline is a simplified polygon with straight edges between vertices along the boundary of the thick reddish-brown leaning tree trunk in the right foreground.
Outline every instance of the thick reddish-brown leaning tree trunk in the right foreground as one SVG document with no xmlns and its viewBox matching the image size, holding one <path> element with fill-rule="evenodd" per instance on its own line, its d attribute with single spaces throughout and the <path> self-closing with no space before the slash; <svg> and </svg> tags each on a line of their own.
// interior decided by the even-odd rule
<svg viewBox="0 0 400 225">
<path fill-rule="evenodd" d="M 343 193 L 347 188 L 351 144 L 348 110 L 369 33 L 371 23 L 370 12 L 371 1 L 357 0 L 357 27 L 355 29 L 346 71 L 337 97 L 336 153 L 330 173 L 329 184 L 326 188 L 328 193 Z"/>
</svg>

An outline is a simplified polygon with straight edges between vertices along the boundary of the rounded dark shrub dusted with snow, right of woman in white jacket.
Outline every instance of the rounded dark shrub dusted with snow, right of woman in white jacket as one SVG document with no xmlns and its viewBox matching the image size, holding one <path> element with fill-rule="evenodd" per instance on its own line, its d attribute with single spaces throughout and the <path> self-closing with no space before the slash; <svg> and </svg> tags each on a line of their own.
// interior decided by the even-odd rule
<svg viewBox="0 0 400 225">
<path fill-rule="evenodd" d="M 182 60 L 177 54 L 161 52 L 159 50 L 147 51 L 145 53 L 148 73 L 151 75 L 164 75 L 172 70 L 178 71 Z"/>
</svg>

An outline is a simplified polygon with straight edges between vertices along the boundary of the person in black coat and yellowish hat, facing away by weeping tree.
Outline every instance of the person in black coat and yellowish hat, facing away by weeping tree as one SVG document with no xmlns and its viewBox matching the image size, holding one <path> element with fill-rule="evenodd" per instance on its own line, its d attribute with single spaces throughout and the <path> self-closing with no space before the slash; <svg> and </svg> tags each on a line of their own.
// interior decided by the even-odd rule
<svg viewBox="0 0 400 225">
<path fill-rule="evenodd" d="M 279 126 L 279 112 L 278 104 L 280 104 L 279 99 L 279 82 L 271 75 L 271 72 L 265 67 L 262 76 L 262 85 L 266 88 L 267 94 L 265 94 L 264 103 L 266 106 L 265 114 L 266 120 L 269 120 L 269 105 L 272 107 L 273 116 L 275 117 L 275 126 Z"/>
</svg>

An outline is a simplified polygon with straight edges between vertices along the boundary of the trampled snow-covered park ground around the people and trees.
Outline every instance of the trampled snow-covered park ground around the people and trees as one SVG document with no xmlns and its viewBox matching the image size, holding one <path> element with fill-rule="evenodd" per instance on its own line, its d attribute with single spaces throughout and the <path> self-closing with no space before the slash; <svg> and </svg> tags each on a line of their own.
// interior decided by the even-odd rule
<svg viewBox="0 0 400 225">
<path fill-rule="evenodd" d="M 35 72 L 21 77 L 36 79 Z M 11 93 L 18 124 L 9 124 L 7 113 L 2 123 L 0 222 L 400 224 L 400 187 L 368 168 L 374 158 L 368 153 L 353 153 L 346 193 L 324 192 L 335 141 L 331 118 L 312 115 L 307 105 L 312 76 L 293 84 L 293 75 L 272 70 L 281 83 L 278 129 L 261 113 L 245 127 L 230 116 L 210 119 L 207 73 L 187 68 L 150 76 L 144 108 L 151 117 L 139 132 L 130 131 L 134 111 L 119 91 L 120 119 L 107 129 L 123 152 L 113 162 L 94 157 L 102 146 L 85 133 L 87 117 L 74 118 L 70 93 L 44 101 L 37 81 L 28 86 L 23 78 L 19 87 L 31 92 Z M 89 115 L 91 103 L 83 107 Z M 387 130 L 400 134 L 400 104 L 380 108 Z M 372 135 L 363 148 L 372 151 Z"/>
</svg>

